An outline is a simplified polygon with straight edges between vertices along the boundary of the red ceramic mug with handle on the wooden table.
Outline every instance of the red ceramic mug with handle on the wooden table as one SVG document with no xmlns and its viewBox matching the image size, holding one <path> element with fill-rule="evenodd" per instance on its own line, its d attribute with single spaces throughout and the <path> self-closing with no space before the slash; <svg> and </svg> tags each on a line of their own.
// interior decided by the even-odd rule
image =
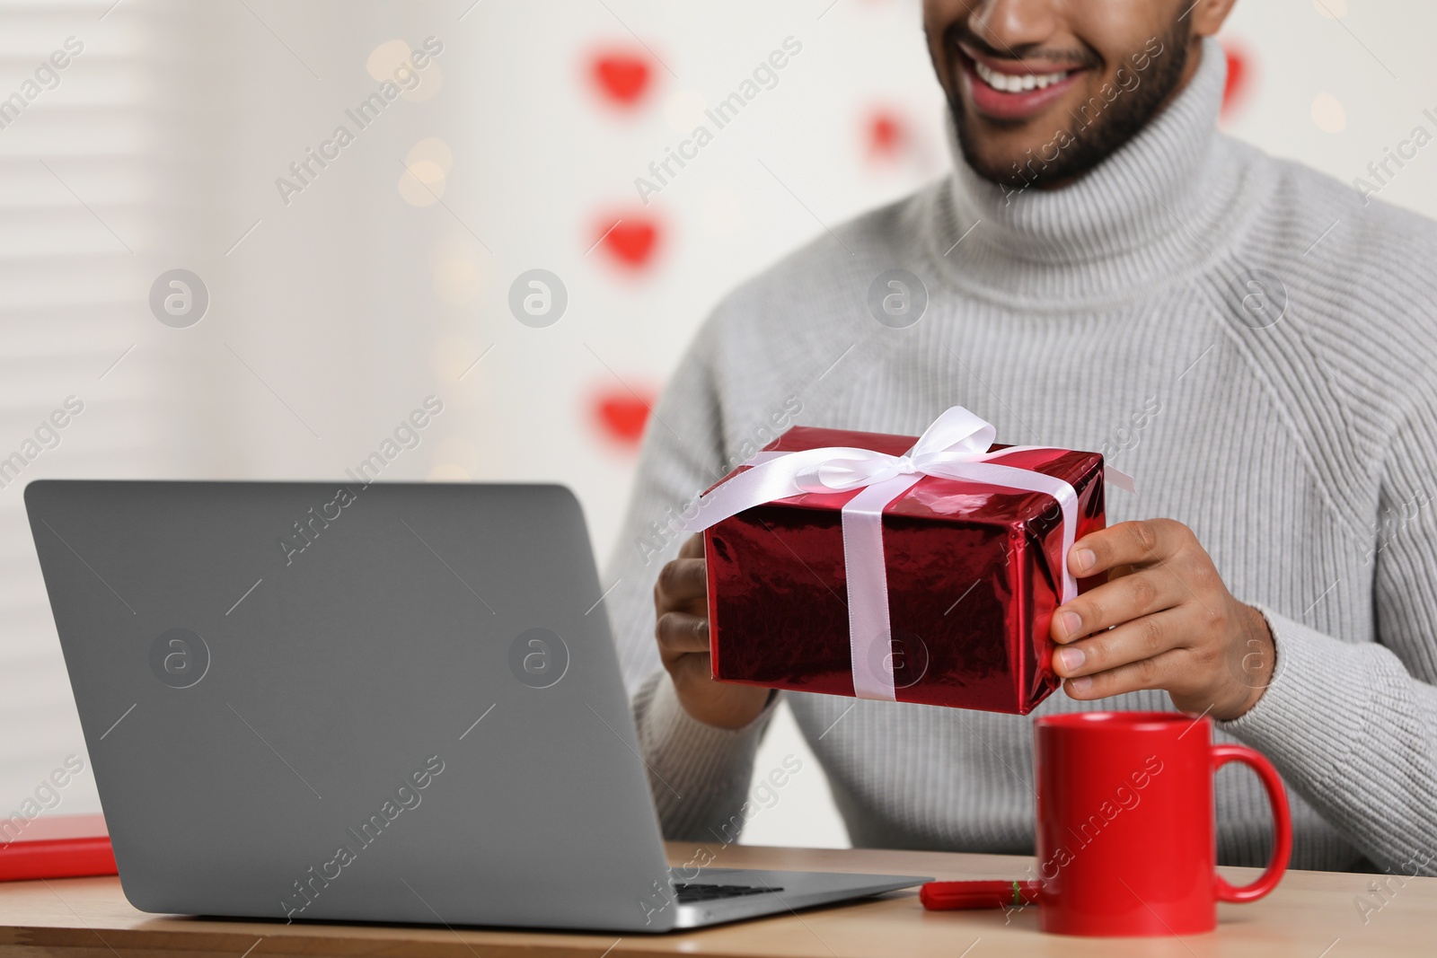
<svg viewBox="0 0 1437 958">
<path fill-rule="evenodd" d="M 1277 770 L 1252 748 L 1211 744 L 1207 718 L 1072 712 L 1035 725 L 1043 931 L 1211 931 L 1217 902 L 1256 901 L 1288 870 L 1292 822 Z M 1276 823 L 1267 870 L 1242 888 L 1214 870 L 1213 774 L 1229 761 L 1257 773 Z"/>
</svg>

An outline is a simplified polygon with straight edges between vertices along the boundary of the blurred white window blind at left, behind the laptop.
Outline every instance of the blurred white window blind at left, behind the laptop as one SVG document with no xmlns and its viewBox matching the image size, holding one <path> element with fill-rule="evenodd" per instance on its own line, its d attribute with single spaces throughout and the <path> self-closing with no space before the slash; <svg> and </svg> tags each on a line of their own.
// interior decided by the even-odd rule
<svg viewBox="0 0 1437 958">
<path fill-rule="evenodd" d="M 128 0 L 0 1 L 0 816 L 99 807 L 24 484 L 184 468 L 145 309 L 181 205 L 164 33 Z M 85 770 L 46 786 L 69 755 Z"/>
</svg>

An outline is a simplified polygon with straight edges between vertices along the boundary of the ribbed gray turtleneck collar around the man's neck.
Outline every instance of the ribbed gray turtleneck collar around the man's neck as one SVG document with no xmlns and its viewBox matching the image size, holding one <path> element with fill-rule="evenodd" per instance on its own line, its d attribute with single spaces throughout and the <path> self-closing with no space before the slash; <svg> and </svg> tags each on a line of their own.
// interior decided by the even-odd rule
<svg viewBox="0 0 1437 958">
<path fill-rule="evenodd" d="M 1224 221 L 1240 217 L 1242 164 L 1216 132 L 1226 78 L 1221 46 L 1204 40 L 1183 92 L 1117 152 L 1056 190 L 1015 192 L 980 178 L 950 119 L 954 175 L 930 230 L 940 273 L 1007 302 L 1072 300 L 1131 294 L 1135 284 L 1210 260 L 1232 225 Z"/>
</svg>

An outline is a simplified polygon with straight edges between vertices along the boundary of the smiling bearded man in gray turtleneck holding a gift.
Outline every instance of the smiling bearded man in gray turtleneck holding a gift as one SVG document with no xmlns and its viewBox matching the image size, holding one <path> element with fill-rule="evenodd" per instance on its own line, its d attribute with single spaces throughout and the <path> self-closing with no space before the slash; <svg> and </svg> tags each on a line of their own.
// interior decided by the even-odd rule
<svg viewBox="0 0 1437 958">
<path fill-rule="evenodd" d="M 1066 694 L 1038 714 L 1210 715 L 1283 773 L 1295 868 L 1437 869 L 1437 230 L 1217 134 L 1232 3 L 928 0 L 951 178 L 704 325 L 609 575 L 670 836 L 734 832 L 776 698 L 708 678 L 670 520 L 773 425 L 914 435 L 964 405 L 1140 483 L 1068 556 L 1109 580 L 1053 615 Z M 868 307 L 894 269 L 915 323 Z M 1032 850 L 1032 718 L 787 701 L 855 845 Z M 1217 816 L 1220 860 L 1263 863 L 1257 781 L 1224 773 Z"/>
</svg>

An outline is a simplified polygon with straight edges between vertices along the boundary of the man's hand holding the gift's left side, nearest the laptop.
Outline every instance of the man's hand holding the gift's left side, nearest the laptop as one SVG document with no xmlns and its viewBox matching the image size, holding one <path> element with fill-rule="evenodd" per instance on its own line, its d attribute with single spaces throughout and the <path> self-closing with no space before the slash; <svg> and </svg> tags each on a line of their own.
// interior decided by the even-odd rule
<svg viewBox="0 0 1437 958">
<path fill-rule="evenodd" d="M 769 689 L 716 682 L 708 656 L 708 579 L 703 536 L 693 536 L 654 583 L 658 655 L 684 711 L 720 728 L 743 728 L 763 711 Z"/>
</svg>

